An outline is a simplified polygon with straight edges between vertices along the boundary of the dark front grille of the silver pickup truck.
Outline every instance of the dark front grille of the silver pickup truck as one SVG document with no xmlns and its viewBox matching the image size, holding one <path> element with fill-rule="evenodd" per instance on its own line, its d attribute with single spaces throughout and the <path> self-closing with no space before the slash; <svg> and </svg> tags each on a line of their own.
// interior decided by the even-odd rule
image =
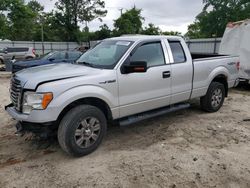
<svg viewBox="0 0 250 188">
<path fill-rule="evenodd" d="M 11 79 L 10 85 L 10 99 L 17 111 L 20 111 L 21 107 L 21 82 L 14 76 Z"/>
</svg>

